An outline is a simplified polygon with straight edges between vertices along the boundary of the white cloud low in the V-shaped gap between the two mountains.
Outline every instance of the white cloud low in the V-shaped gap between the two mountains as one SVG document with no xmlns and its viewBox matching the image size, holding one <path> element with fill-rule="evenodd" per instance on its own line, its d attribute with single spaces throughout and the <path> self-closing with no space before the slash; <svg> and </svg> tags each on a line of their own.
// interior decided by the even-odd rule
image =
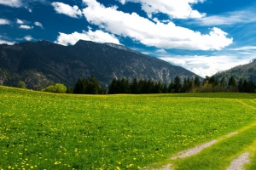
<svg viewBox="0 0 256 170">
<path fill-rule="evenodd" d="M 201 77 L 211 77 L 218 71 L 226 71 L 237 65 L 245 65 L 253 59 L 253 55 L 247 59 L 240 59 L 237 56 L 173 56 L 160 58 L 179 65 Z"/>
</svg>

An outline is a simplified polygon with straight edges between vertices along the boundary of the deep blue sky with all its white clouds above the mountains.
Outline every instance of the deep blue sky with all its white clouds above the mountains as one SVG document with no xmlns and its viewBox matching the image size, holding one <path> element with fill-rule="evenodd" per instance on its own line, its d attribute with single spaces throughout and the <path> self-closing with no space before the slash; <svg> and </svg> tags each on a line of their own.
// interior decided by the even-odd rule
<svg viewBox="0 0 256 170">
<path fill-rule="evenodd" d="M 113 42 L 206 77 L 256 59 L 255 0 L 0 0 L 0 43 Z"/>
</svg>

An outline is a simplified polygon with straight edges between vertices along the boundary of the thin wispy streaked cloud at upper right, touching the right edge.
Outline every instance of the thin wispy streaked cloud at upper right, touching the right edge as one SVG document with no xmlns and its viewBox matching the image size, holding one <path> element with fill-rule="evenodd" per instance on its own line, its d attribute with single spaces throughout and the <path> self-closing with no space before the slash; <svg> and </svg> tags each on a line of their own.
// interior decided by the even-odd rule
<svg viewBox="0 0 256 170">
<path fill-rule="evenodd" d="M 224 26 L 256 22 L 256 8 L 212 15 L 192 22 L 201 26 Z"/>
</svg>

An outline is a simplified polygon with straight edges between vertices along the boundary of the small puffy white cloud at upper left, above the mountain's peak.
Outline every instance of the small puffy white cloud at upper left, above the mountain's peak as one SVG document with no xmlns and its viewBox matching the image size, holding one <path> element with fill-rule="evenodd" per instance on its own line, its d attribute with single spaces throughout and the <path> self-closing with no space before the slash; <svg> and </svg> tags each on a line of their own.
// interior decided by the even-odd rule
<svg viewBox="0 0 256 170">
<path fill-rule="evenodd" d="M 82 12 L 77 5 L 73 7 L 65 3 L 51 3 L 58 14 L 67 14 L 70 17 L 78 18 L 82 16 Z"/>
</svg>

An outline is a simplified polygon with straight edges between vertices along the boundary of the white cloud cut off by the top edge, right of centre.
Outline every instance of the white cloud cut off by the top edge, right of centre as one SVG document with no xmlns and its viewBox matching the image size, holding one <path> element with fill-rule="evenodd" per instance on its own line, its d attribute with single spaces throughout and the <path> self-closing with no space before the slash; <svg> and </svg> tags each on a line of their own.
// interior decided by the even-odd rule
<svg viewBox="0 0 256 170">
<path fill-rule="evenodd" d="M 149 17 L 158 13 L 168 14 L 175 19 L 195 19 L 206 15 L 191 7 L 195 3 L 203 3 L 204 0 L 119 0 L 119 2 L 123 4 L 126 2 L 141 3 L 142 9 Z"/>
</svg>

